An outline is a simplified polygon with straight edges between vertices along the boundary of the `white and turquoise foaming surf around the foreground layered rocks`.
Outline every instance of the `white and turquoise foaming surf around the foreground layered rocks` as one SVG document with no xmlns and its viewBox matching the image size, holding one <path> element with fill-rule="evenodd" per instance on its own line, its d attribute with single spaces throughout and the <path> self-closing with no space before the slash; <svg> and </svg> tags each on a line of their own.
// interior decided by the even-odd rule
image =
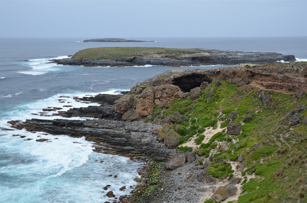
<svg viewBox="0 0 307 203">
<path fill-rule="evenodd" d="M 100 94 L 119 94 L 117 91 L 120 90 L 109 90 L 100 92 Z M 3 113 L 0 125 L 10 128 L 10 124 L 7 124 L 6 121 L 61 118 L 59 116 L 40 117 L 32 113 L 40 112 L 42 108 L 48 106 L 61 107 L 63 108 L 61 110 L 65 111 L 71 107 L 63 107 L 63 105 L 73 107 L 99 105 L 85 104 L 73 99 L 73 96 L 83 97 L 96 94 L 98 93 L 57 94 L 21 105 L 14 111 Z M 59 103 L 58 99 L 63 99 L 64 103 Z M 65 119 L 83 120 L 86 118 Z M 63 200 L 104 202 L 110 198 L 101 192 L 103 186 L 112 183 L 109 190 L 119 197 L 129 194 L 137 184 L 133 179 L 140 177 L 137 170 L 142 167 L 143 163 L 131 161 L 126 157 L 93 152 L 93 143 L 86 141 L 84 137 L 54 136 L 45 132 L 28 132 L 25 129 L 14 131 L 0 129 L 0 135 L 4 163 L 0 175 L 10 179 L 10 183 L 3 179 L 0 185 L 3 202 L 39 203 L 62 202 Z M 21 136 L 25 137 L 21 138 Z M 41 138 L 48 139 L 48 141 L 36 141 Z M 118 177 L 109 177 L 109 174 Z M 125 191 L 119 190 L 122 186 L 127 186 Z"/>
</svg>

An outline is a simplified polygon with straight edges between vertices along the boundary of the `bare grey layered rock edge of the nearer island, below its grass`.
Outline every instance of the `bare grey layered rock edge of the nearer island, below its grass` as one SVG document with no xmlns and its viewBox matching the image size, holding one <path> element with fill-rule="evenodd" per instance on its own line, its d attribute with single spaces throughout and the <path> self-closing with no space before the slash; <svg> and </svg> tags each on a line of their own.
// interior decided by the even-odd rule
<svg viewBox="0 0 307 203">
<path fill-rule="evenodd" d="M 239 51 L 221 51 L 212 49 L 191 49 L 201 50 L 203 53 L 188 54 L 183 56 L 163 56 L 163 57 L 146 57 L 135 56 L 131 58 L 105 58 L 105 59 L 83 59 L 72 56 L 67 59 L 53 59 L 52 62 L 62 65 L 82 65 L 82 66 L 203 66 L 203 65 L 233 65 L 240 63 L 265 64 L 276 63 L 277 61 L 294 62 L 296 59 L 293 55 L 282 55 L 276 52 L 239 52 Z"/>
</svg>

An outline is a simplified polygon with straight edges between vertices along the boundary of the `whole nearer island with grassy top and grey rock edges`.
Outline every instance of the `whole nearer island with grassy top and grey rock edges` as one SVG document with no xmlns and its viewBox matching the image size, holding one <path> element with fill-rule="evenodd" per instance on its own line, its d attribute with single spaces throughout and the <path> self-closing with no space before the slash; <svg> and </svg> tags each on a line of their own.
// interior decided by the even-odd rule
<svg viewBox="0 0 307 203">
<path fill-rule="evenodd" d="M 52 61 L 63 65 L 83 66 L 157 65 L 181 67 L 240 63 L 264 64 L 282 60 L 294 62 L 295 57 L 276 52 L 239 52 L 202 48 L 103 47 L 87 48 L 75 53 L 71 58 Z"/>
</svg>

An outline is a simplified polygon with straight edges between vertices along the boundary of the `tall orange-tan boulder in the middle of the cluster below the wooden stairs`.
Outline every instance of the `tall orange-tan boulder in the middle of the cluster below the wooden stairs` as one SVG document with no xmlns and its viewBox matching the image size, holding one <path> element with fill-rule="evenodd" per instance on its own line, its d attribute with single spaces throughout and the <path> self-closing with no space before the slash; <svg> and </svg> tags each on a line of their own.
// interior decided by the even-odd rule
<svg viewBox="0 0 307 203">
<path fill-rule="evenodd" d="M 138 95 L 135 112 L 142 116 L 148 116 L 153 112 L 153 107 L 153 90 L 152 88 L 146 88 L 140 95 Z"/>
</svg>

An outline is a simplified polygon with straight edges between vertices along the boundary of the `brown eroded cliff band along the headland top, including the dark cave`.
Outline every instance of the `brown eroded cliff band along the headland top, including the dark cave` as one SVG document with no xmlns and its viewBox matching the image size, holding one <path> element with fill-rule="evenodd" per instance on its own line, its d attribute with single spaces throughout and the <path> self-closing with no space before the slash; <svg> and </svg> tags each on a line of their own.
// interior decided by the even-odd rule
<svg viewBox="0 0 307 203">
<path fill-rule="evenodd" d="M 252 84 L 262 89 L 283 93 L 299 93 L 307 91 L 307 64 L 282 63 L 263 65 L 251 68 L 219 68 L 211 70 L 191 70 L 181 74 L 173 74 L 168 78 L 157 79 L 149 85 L 173 84 L 181 90 L 189 92 L 199 87 L 204 81 L 226 79 L 232 84 L 242 86 Z"/>
</svg>

